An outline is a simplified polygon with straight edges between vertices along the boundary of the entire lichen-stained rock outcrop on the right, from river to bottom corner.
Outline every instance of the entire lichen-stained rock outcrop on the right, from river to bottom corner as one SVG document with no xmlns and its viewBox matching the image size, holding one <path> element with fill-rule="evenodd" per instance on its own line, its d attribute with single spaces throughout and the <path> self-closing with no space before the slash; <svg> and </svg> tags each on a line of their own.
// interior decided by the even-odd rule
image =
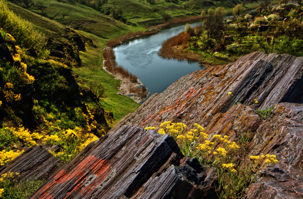
<svg viewBox="0 0 303 199">
<path fill-rule="evenodd" d="M 266 167 L 245 198 L 302 198 L 301 139 L 303 113 L 303 57 L 255 52 L 235 63 L 198 70 L 182 77 L 163 93 L 151 96 L 121 125 L 155 126 L 161 122 L 198 123 L 205 132 L 228 135 L 231 141 L 250 132 L 248 154 L 275 154 L 279 163 Z M 227 94 L 231 92 L 234 106 Z M 258 104 L 254 103 L 258 99 Z M 279 103 L 279 104 L 278 104 Z M 255 109 L 275 108 L 262 121 Z"/>
</svg>

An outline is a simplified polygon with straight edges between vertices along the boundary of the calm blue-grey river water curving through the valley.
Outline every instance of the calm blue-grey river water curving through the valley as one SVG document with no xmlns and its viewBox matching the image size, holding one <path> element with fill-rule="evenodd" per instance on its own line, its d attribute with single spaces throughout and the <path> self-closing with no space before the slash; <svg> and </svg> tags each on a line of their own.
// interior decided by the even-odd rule
<svg viewBox="0 0 303 199">
<path fill-rule="evenodd" d="M 200 24 L 200 21 L 194 22 L 191 26 Z M 148 97 L 163 92 L 172 83 L 193 71 L 205 70 L 198 62 L 158 56 L 162 42 L 183 32 L 185 25 L 183 23 L 163 27 L 156 34 L 132 38 L 114 48 L 116 62 L 142 81 L 150 93 Z"/>
</svg>

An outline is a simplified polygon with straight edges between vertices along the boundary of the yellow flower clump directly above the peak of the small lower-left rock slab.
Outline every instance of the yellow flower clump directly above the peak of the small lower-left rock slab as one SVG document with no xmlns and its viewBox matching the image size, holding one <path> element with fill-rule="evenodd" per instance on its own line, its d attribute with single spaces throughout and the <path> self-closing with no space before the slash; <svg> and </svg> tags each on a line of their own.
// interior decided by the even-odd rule
<svg viewBox="0 0 303 199">
<path fill-rule="evenodd" d="M 8 127 L 5 127 L 8 129 Z M 22 139 L 27 146 L 32 146 L 35 145 L 36 142 L 33 139 L 40 139 L 43 137 L 43 135 L 39 135 L 39 133 L 31 132 L 28 131 L 28 129 L 25 129 L 24 127 L 18 128 L 18 131 L 16 131 L 15 128 L 11 128 L 13 130 L 13 134 L 20 139 Z"/>
</svg>

